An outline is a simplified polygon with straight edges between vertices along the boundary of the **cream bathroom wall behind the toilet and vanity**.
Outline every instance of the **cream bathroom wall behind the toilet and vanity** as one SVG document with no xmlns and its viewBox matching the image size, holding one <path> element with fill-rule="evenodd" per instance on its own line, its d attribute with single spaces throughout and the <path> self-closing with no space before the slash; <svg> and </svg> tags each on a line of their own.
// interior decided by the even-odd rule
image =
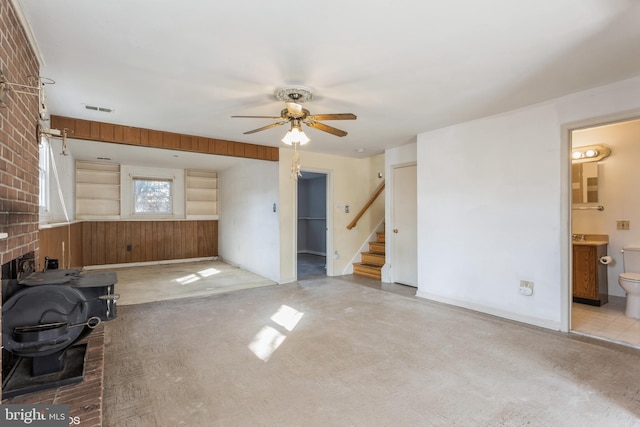
<svg viewBox="0 0 640 427">
<path fill-rule="evenodd" d="M 602 144 L 611 148 L 611 155 L 598 162 L 598 203 L 603 211 L 574 210 L 573 232 L 606 234 L 609 236 L 609 295 L 624 297 L 618 284 L 623 271 L 620 250 L 628 244 L 640 244 L 640 120 L 626 121 L 583 129 L 572 134 L 574 147 Z M 629 220 L 630 230 L 617 230 L 617 220 Z"/>
</svg>

